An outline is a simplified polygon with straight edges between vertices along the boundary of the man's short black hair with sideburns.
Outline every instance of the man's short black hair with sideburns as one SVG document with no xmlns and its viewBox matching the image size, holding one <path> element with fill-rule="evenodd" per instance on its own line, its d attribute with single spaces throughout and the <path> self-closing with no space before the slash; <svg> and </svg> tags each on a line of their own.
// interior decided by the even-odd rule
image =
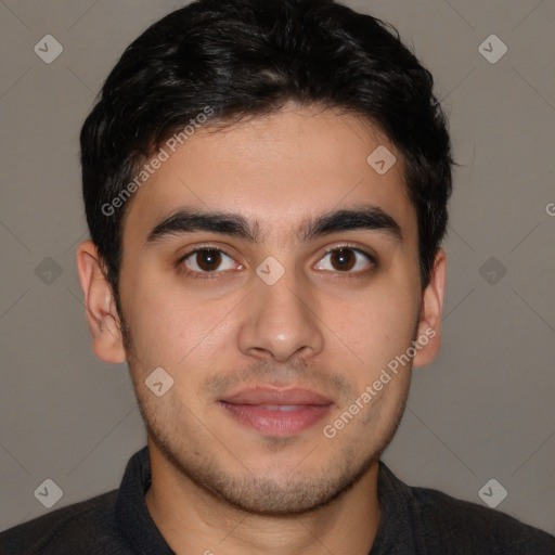
<svg viewBox="0 0 555 555">
<path fill-rule="evenodd" d="M 118 310 L 125 195 L 140 186 L 141 163 L 176 133 L 182 142 L 201 115 L 206 126 L 240 121 L 289 101 L 360 115 L 402 153 L 425 288 L 454 164 L 433 87 L 393 26 L 334 0 L 197 0 L 153 24 L 106 78 L 80 133 L 87 222 Z"/>
</svg>

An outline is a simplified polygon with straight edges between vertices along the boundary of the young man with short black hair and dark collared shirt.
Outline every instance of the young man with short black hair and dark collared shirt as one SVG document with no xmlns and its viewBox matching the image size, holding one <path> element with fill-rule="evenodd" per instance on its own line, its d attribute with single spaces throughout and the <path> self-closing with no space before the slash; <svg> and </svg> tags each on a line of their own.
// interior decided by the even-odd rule
<svg viewBox="0 0 555 555">
<path fill-rule="evenodd" d="M 77 263 L 147 447 L 2 554 L 555 553 L 379 461 L 440 345 L 453 162 L 431 89 L 332 0 L 201 0 L 126 50 L 81 131 Z"/>
</svg>

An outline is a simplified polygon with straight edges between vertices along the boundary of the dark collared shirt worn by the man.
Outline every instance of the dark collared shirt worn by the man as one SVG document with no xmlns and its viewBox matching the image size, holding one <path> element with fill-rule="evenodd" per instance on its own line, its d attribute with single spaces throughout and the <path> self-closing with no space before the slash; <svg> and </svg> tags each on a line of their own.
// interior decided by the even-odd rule
<svg viewBox="0 0 555 555">
<path fill-rule="evenodd" d="M 119 489 L 5 530 L 0 554 L 171 555 L 144 500 L 150 486 L 145 447 L 129 460 Z M 499 511 L 409 487 L 382 461 L 378 499 L 382 519 L 369 555 L 555 555 L 555 537 Z"/>
</svg>

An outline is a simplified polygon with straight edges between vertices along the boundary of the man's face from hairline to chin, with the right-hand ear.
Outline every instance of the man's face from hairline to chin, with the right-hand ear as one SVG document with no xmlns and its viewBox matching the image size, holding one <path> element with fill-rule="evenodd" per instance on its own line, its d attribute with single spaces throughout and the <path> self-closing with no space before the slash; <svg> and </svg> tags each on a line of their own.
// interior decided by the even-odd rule
<svg viewBox="0 0 555 555">
<path fill-rule="evenodd" d="M 366 162 L 378 146 L 397 158 L 384 175 Z M 413 362 L 435 356 L 442 296 L 439 270 L 423 295 L 416 214 L 384 134 L 307 107 L 199 129 L 134 194 L 122 246 L 135 395 L 185 480 L 291 514 L 364 476 Z M 173 383 L 158 397 L 145 380 L 159 367 Z"/>
</svg>

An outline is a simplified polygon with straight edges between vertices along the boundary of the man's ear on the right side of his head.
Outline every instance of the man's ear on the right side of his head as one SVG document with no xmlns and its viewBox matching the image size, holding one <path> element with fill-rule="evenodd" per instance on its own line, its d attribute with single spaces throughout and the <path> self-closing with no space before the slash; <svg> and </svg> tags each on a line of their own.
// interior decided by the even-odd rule
<svg viewBox="0 0 555 555">
<path fill-rule="evenodd" d="M 422 295 L 422 313 L 416 337 L 416 354 L 413 366 L 429 364 L 439 352 L 441 345 L 441 310 L 446 291 L 447 255 L 440 248 L 436 255 L 428 286 Z"/>
</svg>

